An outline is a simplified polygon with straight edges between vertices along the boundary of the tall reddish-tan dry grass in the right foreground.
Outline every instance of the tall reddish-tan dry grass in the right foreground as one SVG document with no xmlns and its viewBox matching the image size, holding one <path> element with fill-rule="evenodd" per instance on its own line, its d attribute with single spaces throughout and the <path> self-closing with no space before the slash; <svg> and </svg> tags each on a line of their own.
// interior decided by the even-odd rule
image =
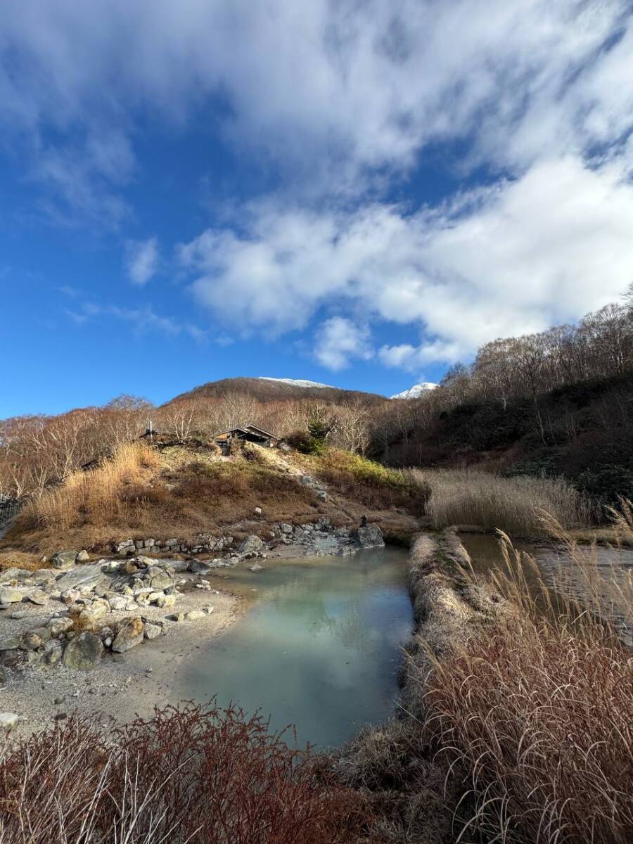
<svg viewBox="0 0 633 844">
<path fill-rule="evenodd" d="M 616 522 L 633 534 L 630 504 Z M 467 772 L 460 840 L 625 844 L 633 841 L 633 657 L 613 620 L 633 630 L 633 579 L 605 579 L 595 546 L 547 527 L 566 546 L 560 580 L 545 583 L 500 535 L 494 585 L 516 613 L 435 661 L 424 678 L 426 728 Z M 566 592 L 565 567 L 582 583 L 579 597 Z"/>
</svg>

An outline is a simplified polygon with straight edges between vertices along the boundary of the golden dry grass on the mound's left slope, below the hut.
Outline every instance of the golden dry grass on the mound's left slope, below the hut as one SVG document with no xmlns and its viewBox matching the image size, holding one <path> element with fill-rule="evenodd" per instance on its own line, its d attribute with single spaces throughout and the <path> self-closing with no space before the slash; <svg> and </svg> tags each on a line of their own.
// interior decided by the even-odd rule
<svg viewBox="0 0 633 844">
<path fill-rule="evenodd" d="M 256 506 L 263 524 L 306 520 L 320 510 L 312 490 L 257 454 L 222 462 L 185 447 L 161 453 L 135 443 L 31 501 L 2 545 L 51 554 L 102 549 L 127 537 L 189 540 L 254 518 Z"/>
</svg>

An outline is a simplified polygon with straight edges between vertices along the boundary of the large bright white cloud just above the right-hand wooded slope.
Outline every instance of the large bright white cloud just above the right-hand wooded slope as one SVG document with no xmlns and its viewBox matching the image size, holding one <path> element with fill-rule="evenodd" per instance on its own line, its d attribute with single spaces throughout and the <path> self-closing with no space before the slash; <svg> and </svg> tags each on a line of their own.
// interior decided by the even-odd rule
<svg viewBox="0 0 633 844">
<path fill-rule="evenodd" d="M 414 325 L 419 347 L 380 354 L 410 369 L 576 319 L 631 278 L 633 184 L 613 162 L 544 161 L 418 214 L 263 204 L 245 219 L 241 236 L 208 230 L 181 247 L 199 302 L 268 333 L 305 327 L 332 302 L 362 311 L 365 323 Z"/>
</svg>

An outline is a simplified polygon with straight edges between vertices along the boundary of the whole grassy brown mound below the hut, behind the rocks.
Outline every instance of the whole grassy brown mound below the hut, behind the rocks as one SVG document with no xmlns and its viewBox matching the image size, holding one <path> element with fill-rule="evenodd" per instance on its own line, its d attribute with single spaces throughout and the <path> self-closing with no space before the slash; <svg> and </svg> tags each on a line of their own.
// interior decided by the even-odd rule
<svg viewBox="0 0 633 844">
<path fill-rule="evenodd" d="M 51 554 L 62 548 L 102 551 L 129 537 L 239 538 L 322 515 L 337 524 L 357 524 L 365 514 L 398 535 L 419 529 L 424 498 L 403 473 L 336 450 L 311 458 L 245 446 L 223 459 L 213 444 L 198 443 L 118 446 L 95 468 L 70 473 L 31 499 L 0 549 Z M 336 481 L 327 501 L 300 482 L 304 473 Z M 5 552 L 4 565 L 8 559 Z"/>
</svg>

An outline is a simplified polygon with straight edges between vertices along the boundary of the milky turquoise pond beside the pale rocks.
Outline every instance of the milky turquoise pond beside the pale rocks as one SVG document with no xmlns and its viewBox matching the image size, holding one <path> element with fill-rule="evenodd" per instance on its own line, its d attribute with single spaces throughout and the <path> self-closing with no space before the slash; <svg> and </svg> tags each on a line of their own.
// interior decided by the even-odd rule
<svg viewBox="0 0 633 844">
<path fill-rule="evenodd" d="M 231 571 L 218 586 L 252 606 L 181 668 L 178 696 L 260 709 L 273 729 L 295 724 L 299 743 L 318 748 L 385 720 L 412 626 L 407 555 L 374 549 Z"/>
</svg>

